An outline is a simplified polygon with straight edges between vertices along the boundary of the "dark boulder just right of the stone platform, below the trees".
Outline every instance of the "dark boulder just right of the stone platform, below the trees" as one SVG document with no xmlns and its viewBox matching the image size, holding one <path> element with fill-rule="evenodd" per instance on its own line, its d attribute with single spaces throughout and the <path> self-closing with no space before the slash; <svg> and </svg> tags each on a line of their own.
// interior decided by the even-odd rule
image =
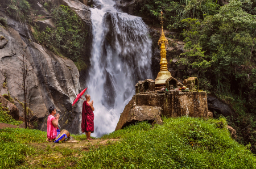
<svg viewBox="0 0 256 169">
<path fill-rule="evenodd" d="M 207 95 L 207 100 L 209 111 L 216 111 L 218 114 L 221 114 L 225 117 L 238 117 L 238 115 L 229 107 L 228 104 L 221 102 L 221 100 L 217 99 L 216 97 Z"/>
</svg>

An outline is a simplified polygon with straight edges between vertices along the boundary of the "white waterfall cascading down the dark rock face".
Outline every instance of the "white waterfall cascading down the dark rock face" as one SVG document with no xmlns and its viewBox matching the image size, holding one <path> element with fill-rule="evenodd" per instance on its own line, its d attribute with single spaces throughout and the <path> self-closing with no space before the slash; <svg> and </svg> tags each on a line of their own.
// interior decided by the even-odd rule
<svg viewBox="0 0 256 169">
<path fill-rule="evenodd" d="M 87 93 L 94 100 L 94 133 L 113 132 L 138 80 L 151 78 L 151 39 L 142 19 L 114 9 L 114 1 L 98 0 L 91 9 L 93 48 Z M 106 36 L 110 36 L 108 39 Z M 108 36 L 108 37 L 109 37 Z"/>
</svg>

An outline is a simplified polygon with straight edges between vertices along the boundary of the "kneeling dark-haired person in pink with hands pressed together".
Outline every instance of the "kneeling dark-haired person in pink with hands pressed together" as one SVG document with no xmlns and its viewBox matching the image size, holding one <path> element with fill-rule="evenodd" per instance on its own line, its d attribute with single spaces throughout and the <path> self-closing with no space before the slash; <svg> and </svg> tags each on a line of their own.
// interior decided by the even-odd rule
<svg viewBox="0 0 256 169">
<path fill-rule="evenodd" d="M 49 107 L 48 111 L 50 114 L 47 119 L 47 141 L 51 141 L 57 137 L 60 114 L 56 115 L 56 108 L 53 105 Z"/>
</svg>

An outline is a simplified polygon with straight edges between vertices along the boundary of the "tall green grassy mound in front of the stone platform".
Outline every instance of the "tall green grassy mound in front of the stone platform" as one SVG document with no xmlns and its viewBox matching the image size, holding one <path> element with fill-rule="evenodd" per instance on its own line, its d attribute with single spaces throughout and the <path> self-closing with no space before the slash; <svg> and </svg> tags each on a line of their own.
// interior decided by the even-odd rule
<svg viewBox="0 0 256 169">
<path fill-rule="evenodd" d="M 225 119 L 164 119 L 110 133 L 119 142 L 84 153 L 78 168 L 255 168 L 256 158 L 229 136 Z M 249 146 L 248 146 L 249 147 Z"/>
</svg>

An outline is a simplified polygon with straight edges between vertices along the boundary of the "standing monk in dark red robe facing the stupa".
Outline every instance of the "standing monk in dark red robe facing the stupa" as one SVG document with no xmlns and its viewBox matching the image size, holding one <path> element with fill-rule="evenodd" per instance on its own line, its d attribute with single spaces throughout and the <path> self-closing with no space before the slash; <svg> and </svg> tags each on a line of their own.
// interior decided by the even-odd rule
<svg viewBox="0 0 256 169">
<path fill-rule="evenodd" d="M 85 95 L 85 101 L 82 103 L 82 123 L 81 129 L 82 133 L 85 132 L 86 140 L 93 140 L 90 138 L 90 133 L 94 132 L 94 107 L 93 107 L 93 100 L 90 102 L 90 95 Z"/>
</svg>

